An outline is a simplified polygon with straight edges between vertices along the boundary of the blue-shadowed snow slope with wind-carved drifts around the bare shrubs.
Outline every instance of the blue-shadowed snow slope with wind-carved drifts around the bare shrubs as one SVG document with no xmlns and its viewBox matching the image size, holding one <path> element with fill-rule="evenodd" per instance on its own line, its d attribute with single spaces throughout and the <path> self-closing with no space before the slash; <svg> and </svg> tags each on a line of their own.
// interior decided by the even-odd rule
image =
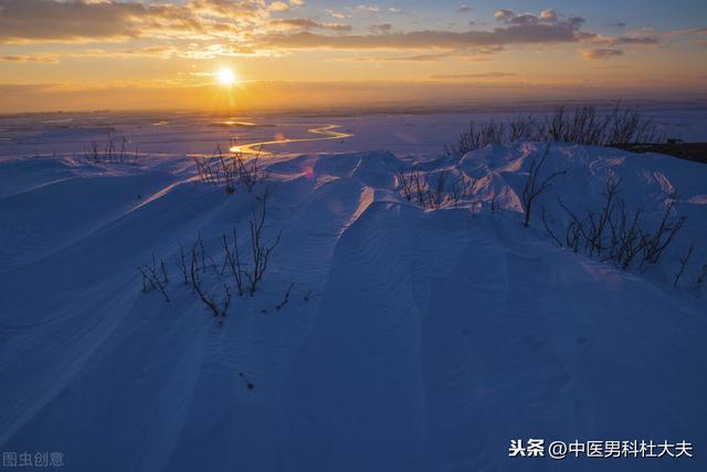
<svg viewBox="0 0 707 472">
<path fill-rule="evenodd" d="M 598 465 L 510 459 L 511 439 L 687 440 L 694 459 L 601 469 L 707 469 L 707 291 L 689 286 L 707 263 L 707 167 L 552 148 L 546 171 L 566 175 L 537 208 L 558 223 L 557 196 L 595 208 L 608 175 L 653 220 L 678 192 L 674 245 L 624 272 L 558 248 L 538 218 L 523 228 L 542 150 L 273 158 L 266 231 L 283 228 L 282 243 L 223 326 L 179 282 L 179 244 L 201 234 L 218 258 L 264 186 L 229 196 L 187 158 L 3 159 L 0 449 L 62 451 L 71 471 L 540 471 Z M 458 168 L 474 195 L 419 208 L 395 177 L 413 164 Z M 152 254 L 168 261 L 169 303 L 141 293 Z"/>
</svg>

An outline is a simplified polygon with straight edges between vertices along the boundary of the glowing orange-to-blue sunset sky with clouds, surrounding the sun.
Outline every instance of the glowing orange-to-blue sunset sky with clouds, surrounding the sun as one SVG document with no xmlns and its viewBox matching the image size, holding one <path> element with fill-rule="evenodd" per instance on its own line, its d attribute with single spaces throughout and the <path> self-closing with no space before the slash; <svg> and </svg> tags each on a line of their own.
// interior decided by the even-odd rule
<svg viewBox="0 0 707 472">
<path fill-rule="evenodd" d="M 0 0 L 0 113 L 690 99 L 705 83 L 705 0 Z"/>
</svg>

